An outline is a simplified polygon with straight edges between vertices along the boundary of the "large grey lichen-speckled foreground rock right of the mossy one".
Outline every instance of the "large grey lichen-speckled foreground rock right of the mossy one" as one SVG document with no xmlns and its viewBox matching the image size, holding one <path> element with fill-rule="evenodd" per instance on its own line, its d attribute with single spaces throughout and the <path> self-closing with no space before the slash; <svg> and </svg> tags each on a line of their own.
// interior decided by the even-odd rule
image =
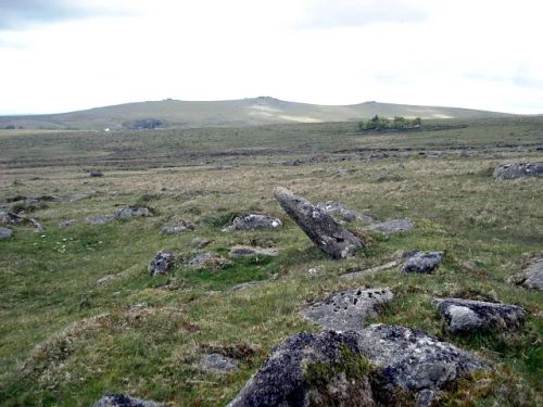
<svg viewBox="0 0 543 407">
<path fill-rule="evenodd" d="M 395 397 L 409 393 L 419 405 L 429 405 L 428 391 L 439 391 L 463 376 L 485 369 L 485 364 L 468 352 L 401 326 L 372 325 L 358 331 L 358 347 L 378 366 L 374 395 L 389 406 L 401 400 Z"/>
</svg>

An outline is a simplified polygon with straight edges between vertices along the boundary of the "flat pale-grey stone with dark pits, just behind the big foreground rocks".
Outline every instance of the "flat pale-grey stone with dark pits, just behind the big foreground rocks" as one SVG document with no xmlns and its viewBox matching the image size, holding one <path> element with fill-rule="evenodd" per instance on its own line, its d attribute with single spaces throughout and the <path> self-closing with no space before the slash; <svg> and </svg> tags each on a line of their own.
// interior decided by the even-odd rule
<svg viewBox="0 0 543 407">
<path fill-rule="evenodd" d="M 358 331 L 366 318 L 377 315 L 378 306 L 393 298 L 389 289 L 364 288 L 342 291 L 300 311 L 321 329 Z"/>
</svg>

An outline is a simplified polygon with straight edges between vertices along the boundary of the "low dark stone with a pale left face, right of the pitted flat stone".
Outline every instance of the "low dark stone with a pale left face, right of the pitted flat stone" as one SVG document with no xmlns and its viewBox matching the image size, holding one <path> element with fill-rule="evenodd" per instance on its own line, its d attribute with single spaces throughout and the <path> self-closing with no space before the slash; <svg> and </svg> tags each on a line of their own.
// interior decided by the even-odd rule
<svg viewBox="0 0 543 407">
<path fill-rule="evenodd" d="M 453 333 L 479 329 L 518 328 L 526 316 L 521 307 L 502 303 L 434 298 L 433 304 Z"/>
</svg>

